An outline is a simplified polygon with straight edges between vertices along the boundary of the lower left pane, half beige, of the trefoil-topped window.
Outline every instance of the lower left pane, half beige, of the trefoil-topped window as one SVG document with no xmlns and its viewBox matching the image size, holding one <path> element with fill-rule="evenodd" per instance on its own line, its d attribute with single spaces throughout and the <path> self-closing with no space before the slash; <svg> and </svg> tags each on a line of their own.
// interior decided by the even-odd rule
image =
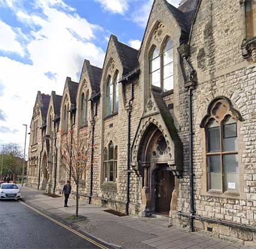
<svg viewBox="0 0 256 249">
<path fill-rule="evenodd" d="M 220 170 L 220 155 L 211 155 L 207 159 L 209 169 L 209 187 L 211 190 L 221 190 L 222 174 Z"/>
</svg>

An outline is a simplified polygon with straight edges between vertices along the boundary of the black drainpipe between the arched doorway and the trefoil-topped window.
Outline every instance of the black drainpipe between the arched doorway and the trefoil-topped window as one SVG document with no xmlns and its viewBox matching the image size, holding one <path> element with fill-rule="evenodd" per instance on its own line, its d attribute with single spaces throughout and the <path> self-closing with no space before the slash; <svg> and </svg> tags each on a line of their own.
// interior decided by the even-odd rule
<svg viewBox="0 0 256 249">
<path fill-rule="evenodd" d="M 194 232 L 194 178 L 193 178 L 193 121 L 192 121 L 192 88 L 189 88 L 189 167 L 190 167 L 190 232 Z"/>
</svg>

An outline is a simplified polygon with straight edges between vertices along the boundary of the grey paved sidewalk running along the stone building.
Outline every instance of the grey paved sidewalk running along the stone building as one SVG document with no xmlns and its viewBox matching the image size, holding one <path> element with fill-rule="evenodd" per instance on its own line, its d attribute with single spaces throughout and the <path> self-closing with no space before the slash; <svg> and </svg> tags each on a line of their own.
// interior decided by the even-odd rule
<svg viewBox="0 0 256 249">
<path fill-rule="evenodd" d="M 133 216 L 119 217 L 104 212 L 107 208 L 88 205 L 80 200 L 79 214 L 86 219 L 70 222 L 75 214 L 75 200 L 69 199 L 69 208 L 63 207 L 63 197 L 49 197 L 43 191 L 22 187 L 25 203 L 69 223 L 79 232 L 102 241 L 109 247 L 125 249 L 251 249 L 201 233 L 190 233 L 180 227 L 168 227 L 167 220 Z"/>
</svg>

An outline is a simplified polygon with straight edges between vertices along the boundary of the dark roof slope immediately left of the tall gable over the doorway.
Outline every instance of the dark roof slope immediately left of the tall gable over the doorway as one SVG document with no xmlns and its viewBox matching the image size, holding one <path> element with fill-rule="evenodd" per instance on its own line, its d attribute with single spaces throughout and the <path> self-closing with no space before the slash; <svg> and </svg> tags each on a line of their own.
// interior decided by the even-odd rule
<svg viewBox="0 0 256 249">
<path fill-rule="evenodd" d="M 113 38 L 120 61 L 122 62 L 123 74 L 133 71 L 139 64 L 137 59 L 139 50 L 134 49 L 133 47 L 130 47 L 124 43 L 120 43 L 115 35 L 111 35 L 110 39 L 111 38 Z"/>
</svg>

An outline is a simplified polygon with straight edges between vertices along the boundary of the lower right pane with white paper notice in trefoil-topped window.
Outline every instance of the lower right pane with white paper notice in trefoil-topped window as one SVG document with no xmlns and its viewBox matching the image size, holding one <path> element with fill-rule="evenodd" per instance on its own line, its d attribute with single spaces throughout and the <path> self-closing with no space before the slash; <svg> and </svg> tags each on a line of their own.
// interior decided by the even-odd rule
<svg viewBox="0 0 256 249">
<path fill-rule="evenodd" d="M 239 191 L 238 155 L 223 155 L 225 190 Z"/>
</svg>

